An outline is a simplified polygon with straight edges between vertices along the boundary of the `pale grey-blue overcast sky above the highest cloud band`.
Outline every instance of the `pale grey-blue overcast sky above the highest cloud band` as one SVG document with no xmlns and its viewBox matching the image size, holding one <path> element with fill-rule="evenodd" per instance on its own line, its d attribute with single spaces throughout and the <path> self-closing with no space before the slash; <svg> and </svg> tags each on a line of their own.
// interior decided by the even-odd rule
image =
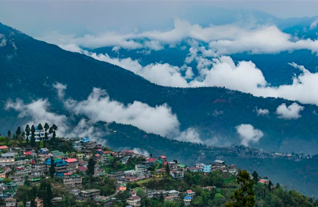
<svg viewBox="0 0 318 207">
<path fill-rule="evenodd" d="M 31 36 L 107 30 L 168 30 L 179 17 L 222 24 L 233 10 L 259 10 L 280 18 L 318 15 L 318 1 L 0 1 L 0 22 Z"/>
</svg>

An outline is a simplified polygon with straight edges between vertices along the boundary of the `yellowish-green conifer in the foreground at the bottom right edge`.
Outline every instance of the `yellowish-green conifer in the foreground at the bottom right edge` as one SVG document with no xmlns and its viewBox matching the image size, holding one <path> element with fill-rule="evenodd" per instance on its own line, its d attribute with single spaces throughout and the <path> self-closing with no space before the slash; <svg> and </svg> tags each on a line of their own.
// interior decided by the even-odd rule
<svg viewBox="0 0 318 207">
<path fill-rule="evenodd" d="M 238 190 L 234 190 L 230 201 L 225 204 L 226 207 L 253 207 L 255 205 L 255 193 L 253 191 L 254 180 L 250 179 L 250 174 L 246 170 L 238 173 L 236 182 L 240 185 Z"/>
</svg>

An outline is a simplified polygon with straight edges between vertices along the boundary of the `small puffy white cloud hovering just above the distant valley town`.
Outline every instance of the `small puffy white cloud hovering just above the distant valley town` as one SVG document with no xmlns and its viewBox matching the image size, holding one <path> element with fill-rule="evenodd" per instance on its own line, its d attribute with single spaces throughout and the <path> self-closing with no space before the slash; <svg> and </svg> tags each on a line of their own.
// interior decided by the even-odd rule
<svg viewBox="0 0 318 207">
<path fill-rule="evenodd" d="M 249 143 L 257 143 L 264 133 L 259 129 L 254 129 L 251 124 L 241 124 L 235 127 L 239 133 L 241 144 L 248 146 Z"/>
</svg>

